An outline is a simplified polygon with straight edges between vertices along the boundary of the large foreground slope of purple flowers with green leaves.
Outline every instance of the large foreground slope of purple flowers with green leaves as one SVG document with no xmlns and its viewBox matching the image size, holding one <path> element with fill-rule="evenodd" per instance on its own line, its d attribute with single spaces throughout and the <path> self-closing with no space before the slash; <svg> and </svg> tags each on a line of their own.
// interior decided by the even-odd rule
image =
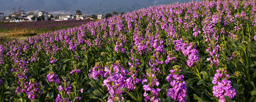
<svg viewBox="0 0 256 102">
<path fill-rule="evenodd" d="M 255 13 L 175 3 L 4 43 L 0 101 L 255 102 Z"/>
</svg>

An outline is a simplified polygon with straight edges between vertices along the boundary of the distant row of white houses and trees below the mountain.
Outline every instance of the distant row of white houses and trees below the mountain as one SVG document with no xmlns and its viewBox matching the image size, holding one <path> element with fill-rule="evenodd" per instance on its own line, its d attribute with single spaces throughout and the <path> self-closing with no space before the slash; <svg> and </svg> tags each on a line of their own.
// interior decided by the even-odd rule
<svg viewBox="0 0 256 102">
<path fill-rule="evenodd" d="M 113 12 L 115 13 L 115 11 Z M 117 12 L 116 12 L 117 13 Z M 123 13 L 123 12 L 122 12 Z M 118 14 L 118 13 L 117 13 Z M 107 16 L 112 16 L 110 13 Z M 108 18 L 108 17 L 105 18 Z M 76 10 L 75 15 L 69 14 L 59 14 L 57 16 L 53 16 L 52 14 L 46 11 L 30 11 L 28 14 L 22 10 L 20 6 L 16 11 L 16 8 L 13 8 L 13 13 L 8 16 L 4 16 L 4 13 L 0 12 L 0 22 L 30 22 L 30 21 L 61 21 L 61 20 L 72 20 L 72 19 L 104 19 L 103 14 L 94 14 L 94 15 L 83 15 L 80 10 Z"/>
</svg>

